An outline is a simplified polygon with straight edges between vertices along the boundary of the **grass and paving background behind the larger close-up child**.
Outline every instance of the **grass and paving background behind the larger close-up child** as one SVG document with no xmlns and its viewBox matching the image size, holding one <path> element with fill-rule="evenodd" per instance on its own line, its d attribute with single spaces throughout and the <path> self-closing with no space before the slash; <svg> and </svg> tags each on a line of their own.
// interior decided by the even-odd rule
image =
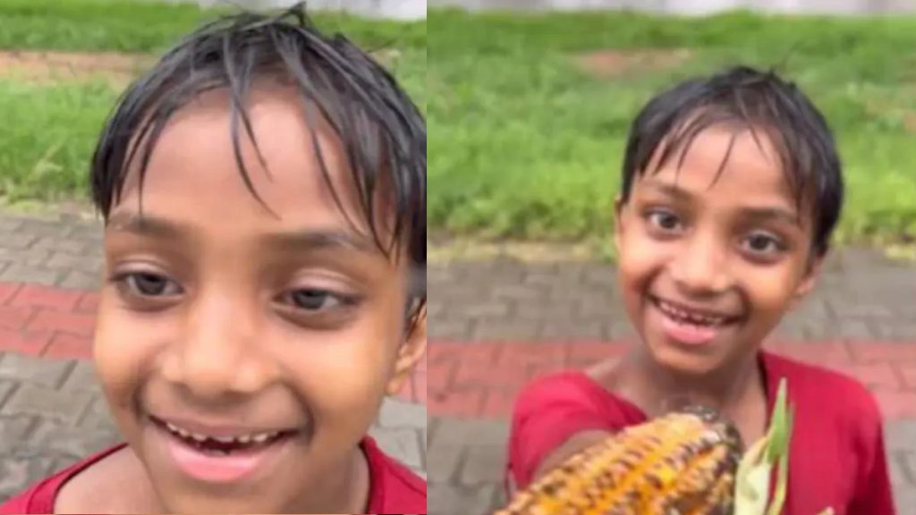
<svg viewBox="0 0 916 515">
<path fill-rule="evenodd" d="M 0 0 L 0 503 L 120 441 L 89 359 L 103 264 L 89 159 L 137 73 L 235 9 L 213 4 Z M 320 27 L 373 51 L 425 108 L 423 2 L 315 4 Z M 423 476 L 424 368 L 371 430 Z"/>
</svg>

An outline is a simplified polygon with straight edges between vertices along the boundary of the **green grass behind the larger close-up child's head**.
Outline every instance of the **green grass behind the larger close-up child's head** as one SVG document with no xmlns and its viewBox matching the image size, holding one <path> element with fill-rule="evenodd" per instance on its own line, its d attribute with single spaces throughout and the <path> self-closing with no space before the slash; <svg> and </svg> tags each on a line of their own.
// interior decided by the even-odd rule
<svg viewBox="0 0 916 515">
<path fill-rule="evenodd" d="M 217 12 L 136 0 L 2 0 L 0 51 L 156 55 Z M 395 74 L 425 104 L 424 23 L 314 17 L 325 31 L 343 32 L 366 49 L 397 49 Z M 86 198 L 95 139 L 119 93 L 101 75 L 32 81 L 0 69 L 0 196 L 14 203 Z"/>
</svg>

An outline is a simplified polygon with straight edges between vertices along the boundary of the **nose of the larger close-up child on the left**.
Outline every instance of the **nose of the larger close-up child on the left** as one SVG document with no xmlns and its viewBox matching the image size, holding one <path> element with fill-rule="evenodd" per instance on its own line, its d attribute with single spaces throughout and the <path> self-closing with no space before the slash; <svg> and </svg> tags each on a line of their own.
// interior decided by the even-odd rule
<svg viewBox="0 0 916 515">
<path fill-rule="evenodd" d="M 258 345 L 259 316 L 245 296 L 213 292 L 189 301 L 164 377 L 200 399 L 253 394 L 276 377 Z"/>
</svg>

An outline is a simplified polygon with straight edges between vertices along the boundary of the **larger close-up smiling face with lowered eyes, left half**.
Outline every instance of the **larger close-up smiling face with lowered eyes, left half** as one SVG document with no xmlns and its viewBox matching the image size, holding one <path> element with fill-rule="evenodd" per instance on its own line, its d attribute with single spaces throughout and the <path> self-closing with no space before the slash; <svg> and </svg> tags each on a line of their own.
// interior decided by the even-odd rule
<svg viewBox="0 0 916 515">
<path fill-rule="evenodd" d="M 255 90 L 249 114 L 268 171 L 240 128 L 245 165 L 273 214 L 238 170 L 228 96 L 183 108 L 152 154 L 143 223 L 136 170 L 109 218 L 96 364 L 170 512 L 344 510 L 365 495 L 348 489 L 356 444 L 422 355 L 425 320 L 406 336 L 409 259 L 369 236 L 332 133 L 316 132 L 343 213 L 294 94 Z"/>
</svg>

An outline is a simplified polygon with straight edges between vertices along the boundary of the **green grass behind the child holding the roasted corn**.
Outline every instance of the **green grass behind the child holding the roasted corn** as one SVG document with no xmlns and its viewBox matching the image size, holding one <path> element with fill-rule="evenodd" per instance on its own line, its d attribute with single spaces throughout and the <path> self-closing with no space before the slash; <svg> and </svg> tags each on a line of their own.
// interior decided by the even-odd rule
<svg viewBox="0 0 916 515">
<path fill-rule="evenodd" d="M 605 237 L 638 109 L 672 82 L 744 62 L 778 67 L 834 126 L 848 183 L 840 238 L 916 236 L 916 18 L 436 11 L 428 27 L 435 232 Z M 691 57 L 613 78 L 571 57 L 649 48 Z"/>
</svg>

